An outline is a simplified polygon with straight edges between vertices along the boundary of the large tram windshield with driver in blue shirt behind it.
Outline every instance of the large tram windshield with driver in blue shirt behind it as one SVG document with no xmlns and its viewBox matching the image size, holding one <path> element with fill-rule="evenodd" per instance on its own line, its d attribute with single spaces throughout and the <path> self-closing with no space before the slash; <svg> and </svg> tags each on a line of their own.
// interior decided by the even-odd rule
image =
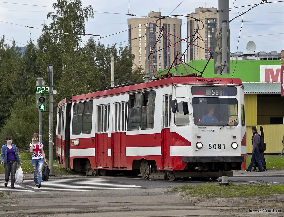
<svg viewBox="0 0 284 217">
<path fill-rule="evenodd" d="M 195 97 L 192 106 L 195 125 L 238 125 L 236 98 Z"/>
</svg>

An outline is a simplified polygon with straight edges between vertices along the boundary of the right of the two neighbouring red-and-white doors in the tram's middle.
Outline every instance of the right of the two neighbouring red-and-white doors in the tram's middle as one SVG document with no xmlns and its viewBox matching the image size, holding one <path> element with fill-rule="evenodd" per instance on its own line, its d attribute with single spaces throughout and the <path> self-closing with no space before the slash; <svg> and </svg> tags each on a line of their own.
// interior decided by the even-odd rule
<svg viewBox="0 0 284 217">
<path fill-rule="evenodd" d="M 125 160 L 127 101 L 114 103 L 113 167 L 122 168 Z"/>
</svg>

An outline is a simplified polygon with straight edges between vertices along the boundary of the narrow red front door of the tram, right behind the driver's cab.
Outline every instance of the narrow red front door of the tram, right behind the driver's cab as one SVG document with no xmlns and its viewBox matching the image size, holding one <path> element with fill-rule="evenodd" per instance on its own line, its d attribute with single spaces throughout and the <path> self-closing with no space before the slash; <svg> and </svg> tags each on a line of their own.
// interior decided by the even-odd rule
<svg viewBox="0 0 284 217">
<path fill-rule="evenodd" d="M 170 146 L 171 146 L 171 109 L 170 109 L 170 102 L 172 100 L 172 95 L 167 94 L 164 95 L 164 105 L 163 105 L 163 165 L 164 168 L 172 168 L 172 158 L 170 156 Z"/>
</svg>

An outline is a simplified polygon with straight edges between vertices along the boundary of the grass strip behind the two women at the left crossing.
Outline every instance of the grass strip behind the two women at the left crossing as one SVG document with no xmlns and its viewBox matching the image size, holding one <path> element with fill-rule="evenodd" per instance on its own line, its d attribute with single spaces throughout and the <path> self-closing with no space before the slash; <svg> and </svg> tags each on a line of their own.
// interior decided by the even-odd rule
<svg viewBox="0 0 284 217">
<path fill-rule="evenodd" d="M 23 172 L 27 172 L 28 174 L 33 174 L 32 168 L 32 153 L 19 153 L 19 158 L 22 163 L 22 170 Z M 49 165 L 49 160 L 47 160 Z M 0 174 L 5 173 L 4 166 L 0 165 Z M 74 175 L 77 174 L 76 172 L 68 171 L 64 169 L 60 164 L 56 161 L 53 161 L 53 173 L 61 174 L 61 175 Z"/>
</svg>

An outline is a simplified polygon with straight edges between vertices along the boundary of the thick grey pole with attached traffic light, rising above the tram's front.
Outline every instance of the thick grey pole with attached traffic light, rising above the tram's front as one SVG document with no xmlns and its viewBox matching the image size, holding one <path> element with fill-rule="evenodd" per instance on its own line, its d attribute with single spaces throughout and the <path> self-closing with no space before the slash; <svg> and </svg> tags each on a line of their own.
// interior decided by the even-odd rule
<svg viewBox="0 0 284 217">
<path fill-rule="evenodd" d="M 230 74 L 229 1 L 218 1 L 218 29 L 214 30 L 214 74 Z"/>
</svg>

